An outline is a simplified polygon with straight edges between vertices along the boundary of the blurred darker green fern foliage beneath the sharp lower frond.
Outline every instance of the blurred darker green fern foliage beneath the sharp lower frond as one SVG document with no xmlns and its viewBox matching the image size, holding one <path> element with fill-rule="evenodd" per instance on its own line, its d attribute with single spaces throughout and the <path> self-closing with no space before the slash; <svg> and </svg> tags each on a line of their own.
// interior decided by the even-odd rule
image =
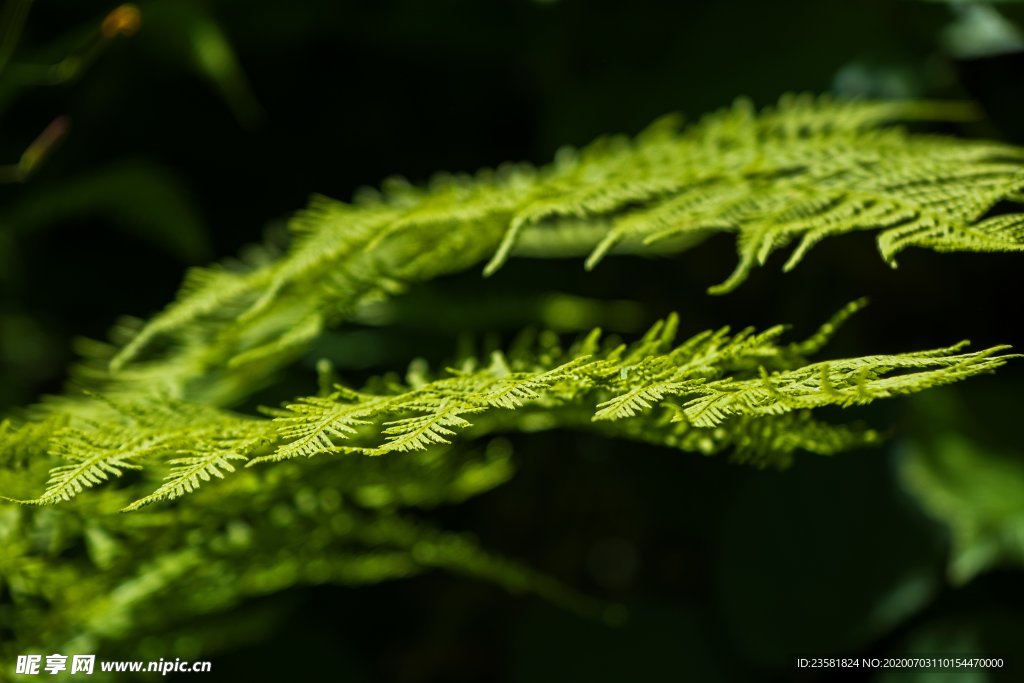
<svg viewBox="0 0 1024 683">
<path fill-rule="evenodd" d="M 118 514 L 126 502 L 118 490 L 84 506 L 5 508 L 0 577 L 9 601 L 0 603 L 0 652 L 4 661 L 36 650 L 144 656 L 146 638 L 156 637 L 170 644 L 173 656 L 188 657 L 195 641 L 180 644 L 169 634 L 189 617 L 296 585 L 360 585 L 429 568 L 600 613 L 604 605 L 482 552 L 471 537 L 403 514 L 500 484 L 511 475 L 510 456 L 498 442 L 482 459 L 434 452 L 386 463 L 323 461 L 313 486 L 298 476 L 305 468 L 286 467 L 269 477 L 247 471 L 214 498 L 197 500 L 197 507 L 158 515 Z M 16 488 L 16 475 L 4 471 L 0 486 Z M 217 643 L 191 647 L 209 654 Z M 96 678 L 116 677 L 97 672 Z"/>
</svg>

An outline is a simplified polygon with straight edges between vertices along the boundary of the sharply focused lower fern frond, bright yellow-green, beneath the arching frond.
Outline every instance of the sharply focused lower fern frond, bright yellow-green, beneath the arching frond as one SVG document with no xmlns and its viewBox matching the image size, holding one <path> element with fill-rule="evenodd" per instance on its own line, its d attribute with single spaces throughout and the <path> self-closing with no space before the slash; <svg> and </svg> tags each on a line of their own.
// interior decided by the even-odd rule
<svg viewBox="0 0 1024 683">
<path fill-rule="evenodd" d="M 991 372 L 1012 357 L 1005 346 L 964 352 L 962 343 L 810 362 L 807 355 L 862 305 L 848 305 L 797 343 L 780 341 L 783 326 L 737 333 L 722 328 L 677 343 L 676 315 L 629 345 L 602 343 L 595 330 L 563 350 L 542 336 L 538 348 L 495 352 L 486 365 L 464 359 L 444 373 L 411 373 L 410 384 L 392 379 L 371 380 L 360 390 L 338 386 L 326 396 L 266 410 L 269 420 L 162 396 L 135 402 L 97 397 L 113 417 L 56 435 L 55 453 L 70 463 L 53 468 L 46 492 L 33 502 L 69 500 L 125 468 L 164 468 L 164 482 L 128 506 L 137 509 L 223 478 L 233 471 L 232 460 L 251 467 L 300 456 L 423 452 L 451 444 L 462 433 L 475 438 L 536 428 L 538 420 L 548 428 L 617 430 L 697 453 L 733 447 L 757 462 L 784 464 L 797 450 L 833 453 L 873 438 L 863 429 L 786 416 L 922 391 Z M 665 410 L 686 425 L 667 426 Z"/>
</svg>

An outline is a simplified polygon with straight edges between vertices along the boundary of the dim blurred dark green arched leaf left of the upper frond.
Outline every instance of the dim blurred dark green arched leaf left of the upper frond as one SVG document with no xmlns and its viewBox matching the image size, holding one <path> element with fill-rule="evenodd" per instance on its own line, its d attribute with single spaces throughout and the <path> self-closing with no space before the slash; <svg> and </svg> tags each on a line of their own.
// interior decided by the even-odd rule
<svg viewBox="0 0 1024 683">
<path fill-rule="evenodd" d="M 41 185 L 2 211 L 0 225 L 28 231 L 95 216 L 185 262 L 210 256 L 207 231 L 188 190 L 174 175 L 144 161 L 119 162 Z"/>
</svg>

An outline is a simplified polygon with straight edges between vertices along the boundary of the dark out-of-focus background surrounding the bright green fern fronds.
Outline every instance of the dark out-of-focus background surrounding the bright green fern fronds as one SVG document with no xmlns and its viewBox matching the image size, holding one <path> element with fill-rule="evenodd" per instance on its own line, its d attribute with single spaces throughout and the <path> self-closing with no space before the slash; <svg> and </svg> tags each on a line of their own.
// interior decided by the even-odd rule
<svg viewBox="0 0 1024 683">
<path fill-rule="evenodd" d="M 312 193 L 541 164 L 669 112 L 790 91 L 969 99 L 978 121 L 930 129 L 1024 144 L 1024 4 L 152 0 L 134 35 L 109 40 L 96 36 L 116 3 L 36 0 L 9 31 L 28 4 L 0 13 L 0 55 L 18 39 L 0 71 L 0 164 L 57 117 L 70 127 L 24 182 L 0 184 L 0 412 L 59 391 L 75 338 L 154 313 L 186 266 L 275 239 Z M 358 378 L 524 326 L 629 336 L 670 310 L 685 333 L 804 334 L 864 295 L 871 306 L 831 353 L 1024 347 L 1019 255 L 912 252 L 892 270 L 854 234 L 792 273 L 782 260 L 710 297 L 734 263 L 725 236 L 593 272 L 521 259 L 486 281 L 420 287 L 390 327 L 353 327 L 314 351 Z M 310 359 L 258 402 L 314 381 Z M 1017 362 L 862 411 L 892 428 L 887 445 L 805 455 L 785 472 L 577 433 L 513 436 L 518 475 L 435 515 L 624 603 L 624 626 L 440 573 L 310 588 L 197 623 L 245 626 L 247 644 L 211 656 L 206 678 L 889 683 L 919 679 L 794 659 L 907 653 L 1001 656 L 1024 676 L 1022 389 Z"/>
</svg>

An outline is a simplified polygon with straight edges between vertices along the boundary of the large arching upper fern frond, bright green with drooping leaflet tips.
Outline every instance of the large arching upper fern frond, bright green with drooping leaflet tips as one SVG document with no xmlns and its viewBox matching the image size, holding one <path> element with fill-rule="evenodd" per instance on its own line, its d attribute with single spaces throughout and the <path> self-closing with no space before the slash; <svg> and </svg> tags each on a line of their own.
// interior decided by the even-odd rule
<svg viewBox="0 0 1024 683">
<path fill-rule="evenodd" d="M 895 265 L 904 249 L 1022 251 L 1024 151 L 908 133 L 898 120 L 959 120 L 940 102 L 783 97 L 750 103 L 680 130 L 655 123 L 635 140 L 611 137 L 474 177 L 427 187 L 391 180 L 354 203 L 314 198 L 280 256 L 195 270 L 178 299 L 92 369 L 108 393 L 160 376 L 173 395 L 226 404 L 368 302 L 487 260 L 688 249 L 736 236 L 738 261 L 713 292 L 737 287 L 795 245 L 791 269 L 817 243 L 877 233 Z M 139 375 L 144 373 L 144 375 Z"/>
</svg>

